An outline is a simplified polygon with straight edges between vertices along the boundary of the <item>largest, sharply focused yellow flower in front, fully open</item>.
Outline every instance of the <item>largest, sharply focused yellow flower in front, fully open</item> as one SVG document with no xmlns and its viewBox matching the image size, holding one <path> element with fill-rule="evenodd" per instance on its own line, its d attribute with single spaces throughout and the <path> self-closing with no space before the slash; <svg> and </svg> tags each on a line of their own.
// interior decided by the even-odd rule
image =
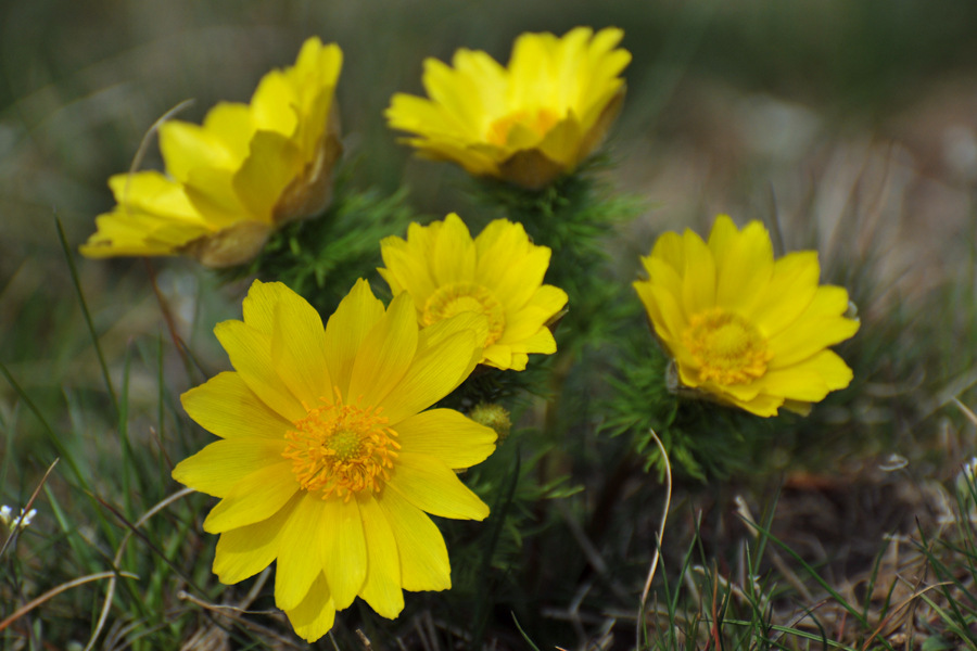
<svg viewBox="0 0 977 651">
<path fill-rule="evenodd" d="M 471 314 L 419 332 L 408 296 L 384 310 L 364 280 L 323 328 L 283 284 L 255 281 L 243 322 L 215 329 L 237 372 L 182 395 L 223 441 L 173 471 L 221 498 L 204 522 L 220 534 L 220 580 L 277 560 L 275 601 L 308 641 L 356 596 L 393 618 L 402 589 L 451 588 L 444 540 L 424 512 L 488 514 L 454 470 L 484 460 L 496 435 L 457 411 L 422 410 L 468 376 L 484 332 Z"/>
</svg>

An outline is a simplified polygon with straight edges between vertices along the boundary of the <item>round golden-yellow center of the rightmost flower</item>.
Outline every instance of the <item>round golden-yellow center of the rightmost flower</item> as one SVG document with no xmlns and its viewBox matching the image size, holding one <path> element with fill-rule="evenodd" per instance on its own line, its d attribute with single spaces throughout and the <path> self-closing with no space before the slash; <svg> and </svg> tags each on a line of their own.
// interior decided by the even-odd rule
<svg viewBox="0 0 977 651">
<path fill-rule="evenodd" d="M 699 376 L 723 385 L 760 378 L 773 357 L 756 326 L 721 307 L 694 316 L 682 343 L 699 363 Z"/>
</svg>

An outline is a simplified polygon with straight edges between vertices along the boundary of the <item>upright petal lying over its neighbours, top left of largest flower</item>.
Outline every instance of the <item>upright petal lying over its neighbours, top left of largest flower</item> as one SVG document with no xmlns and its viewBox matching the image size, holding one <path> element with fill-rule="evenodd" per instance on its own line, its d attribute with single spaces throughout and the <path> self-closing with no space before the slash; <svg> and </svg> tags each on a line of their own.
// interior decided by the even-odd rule
<svg viewBox="0 0 977 651">
<path fill-rule="evenodd" d="M 276 283 L 280 284 L 280 283 Z M 281 285 L 271 337 L 271 365 L 289 391 L 309 408 L 319 398 L 332 401 L 332 382 L 326 361 L 326 329 L 319 312 Z"/>
</svg>

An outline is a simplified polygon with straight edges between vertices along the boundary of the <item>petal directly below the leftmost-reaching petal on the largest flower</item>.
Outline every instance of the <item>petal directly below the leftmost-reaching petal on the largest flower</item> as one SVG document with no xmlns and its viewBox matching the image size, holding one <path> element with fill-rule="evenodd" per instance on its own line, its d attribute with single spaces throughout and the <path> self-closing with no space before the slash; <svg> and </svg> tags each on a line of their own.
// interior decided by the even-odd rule
<svg viewBox="0 0 977 651">
<path fill-rule="evenodd" d="M 204 531 L 223 534 L 271 518 L 299 490 L 299 482 L 292 472 L 292 462 L 283 461 L 251 473 L 217 502 L 207 519 Z"/>
</svg>

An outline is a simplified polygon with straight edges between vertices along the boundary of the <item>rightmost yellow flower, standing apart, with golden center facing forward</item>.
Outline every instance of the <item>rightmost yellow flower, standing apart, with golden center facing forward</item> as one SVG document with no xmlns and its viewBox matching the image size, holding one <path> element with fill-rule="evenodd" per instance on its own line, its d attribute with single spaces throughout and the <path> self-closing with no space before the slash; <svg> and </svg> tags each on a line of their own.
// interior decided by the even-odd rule
<svg viewBox="0 0 977 651">
<path fill-rule="evenodd" d="M 851 369 L 826 348 L 859 322 L 842 316 L 845 289 L 817 285 L 817 252 L 774 261 L 762 224 L 739 231 L 720 215 L 708 244 L 690 230 L 667 232 L 642 263 L 649 280 L 634 286 L 685 386 L 775 416 L 779 407 L 808 413 L 851 382 Z"/>
</svg>

